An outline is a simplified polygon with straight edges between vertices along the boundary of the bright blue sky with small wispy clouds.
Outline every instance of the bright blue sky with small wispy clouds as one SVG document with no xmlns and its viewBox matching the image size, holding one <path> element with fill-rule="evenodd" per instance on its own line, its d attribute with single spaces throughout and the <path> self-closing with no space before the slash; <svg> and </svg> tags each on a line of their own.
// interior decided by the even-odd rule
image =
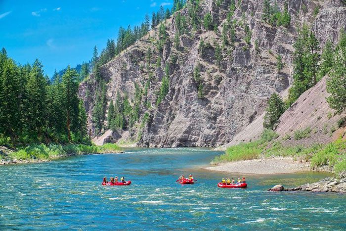
<svg viewBox="0 0 346 231">
<path fill-rule="evenodd" d="M 0 48 L 20 64 L 38 58 L 45 74 L 88 61 L 116 40 L 120 26 L 140 25 L 173 0 L 0 0 Z"/>
</svg>

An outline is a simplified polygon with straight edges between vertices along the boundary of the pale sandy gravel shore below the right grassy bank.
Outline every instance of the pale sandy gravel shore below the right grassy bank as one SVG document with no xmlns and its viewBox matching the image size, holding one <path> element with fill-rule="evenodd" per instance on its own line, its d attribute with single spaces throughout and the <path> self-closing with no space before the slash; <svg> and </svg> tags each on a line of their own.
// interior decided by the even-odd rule
<svg viewBox="0 0 346 231">
<path fill-rule="evenodd" d="M 207 170 L 244 174 L 283 174 L 311 171 L 310 163 L 295 161 L 292 157 L 261 158 L 237 161 L 207 167 Z"/>
</svg>

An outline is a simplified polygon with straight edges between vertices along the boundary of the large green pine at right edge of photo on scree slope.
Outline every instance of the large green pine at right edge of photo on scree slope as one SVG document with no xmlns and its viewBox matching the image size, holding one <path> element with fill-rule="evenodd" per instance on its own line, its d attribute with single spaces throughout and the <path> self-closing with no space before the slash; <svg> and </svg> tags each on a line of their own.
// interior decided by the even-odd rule
<svg viewBox="0 0 346 231">
<path fill-rule="evenodd" d="M 329 106 L 337 113 L 346 111 L 346 33 L 341 32 L 340 42 L 336 47 L 335 62 L 327 79 L 327 98 Z"/>
</svg>

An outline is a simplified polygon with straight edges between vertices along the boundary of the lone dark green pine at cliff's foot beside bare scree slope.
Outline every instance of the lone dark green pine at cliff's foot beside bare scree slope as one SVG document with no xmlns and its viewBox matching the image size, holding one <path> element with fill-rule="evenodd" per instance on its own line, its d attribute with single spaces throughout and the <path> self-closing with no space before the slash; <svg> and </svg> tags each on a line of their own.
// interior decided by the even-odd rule
<svg viewBox="0 0 346 231">
<path fill-rule="evenodd" d="M 265 108 L 263 127 L 274 130 L 280 116 L 285 112 L 285 104 L 280 95 L 272 93 Z"/>
</svg>

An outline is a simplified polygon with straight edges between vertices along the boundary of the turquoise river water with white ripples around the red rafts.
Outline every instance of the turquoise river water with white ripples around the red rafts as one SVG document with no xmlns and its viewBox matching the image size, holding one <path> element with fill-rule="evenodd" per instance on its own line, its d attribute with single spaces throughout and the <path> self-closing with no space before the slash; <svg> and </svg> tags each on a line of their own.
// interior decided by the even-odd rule
<svg viewBox="0 0 346 231">
<path fill-rule="evenodd" d="M 224 174 L 201 166 L 219 153 L 132 149 L 0 166 L 0 229 L 346 229 L 346 195 L 265 191 L 326 175 L 246 176 L 247 189 L 217 188 Z M 195 185 L 175 183 L 189 173 Z M 103 176 L 116 175 L 132 185 L 101 185 Z"/>
</svg>

